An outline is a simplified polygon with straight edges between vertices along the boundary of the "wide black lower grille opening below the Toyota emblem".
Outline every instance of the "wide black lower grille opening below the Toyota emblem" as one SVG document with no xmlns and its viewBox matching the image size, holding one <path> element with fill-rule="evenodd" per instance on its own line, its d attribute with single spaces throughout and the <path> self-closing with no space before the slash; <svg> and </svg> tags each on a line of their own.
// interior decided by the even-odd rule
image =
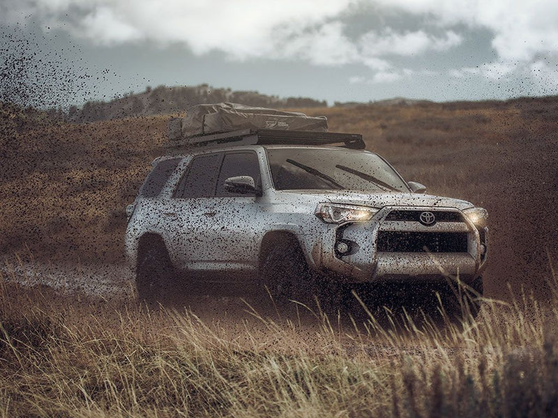
<svg viewBox="0 0 558 418">
<path fill-rule="evenodd" d="M 381 252 L 467 252 L 467 233 L 379 231 Z"/>
</svg>

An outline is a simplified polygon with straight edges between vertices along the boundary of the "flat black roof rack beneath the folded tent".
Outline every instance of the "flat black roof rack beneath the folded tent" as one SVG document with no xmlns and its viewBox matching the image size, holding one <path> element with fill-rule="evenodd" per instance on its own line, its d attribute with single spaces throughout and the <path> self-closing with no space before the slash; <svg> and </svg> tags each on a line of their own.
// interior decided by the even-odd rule
<svg viewBox="0 0 558 418">
<path fill-rule="evenodd" d="M 200 135 L 179 141 L 170 141 L 167 148 L 193 148 L 197 146 L 236 145 L 335 145 L 342 148 L 363 150 L 361 134 L 339 132 L 312 132 L 295 130 L 237 130 L 220 134 Z"/>
</svg>

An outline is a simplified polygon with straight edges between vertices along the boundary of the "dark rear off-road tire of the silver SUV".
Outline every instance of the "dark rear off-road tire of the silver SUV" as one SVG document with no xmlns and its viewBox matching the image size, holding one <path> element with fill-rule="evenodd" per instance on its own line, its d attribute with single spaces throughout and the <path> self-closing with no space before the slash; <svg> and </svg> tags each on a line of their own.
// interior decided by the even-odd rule
<svg viewBox="0 0 558 418">
<path fill-rule="evenodd" d="M 163 243 L 142 245 L 136 267 L 138 299 L 148 303 L 165 302 L 172 288 L 172 263 Z"/>
</svg>

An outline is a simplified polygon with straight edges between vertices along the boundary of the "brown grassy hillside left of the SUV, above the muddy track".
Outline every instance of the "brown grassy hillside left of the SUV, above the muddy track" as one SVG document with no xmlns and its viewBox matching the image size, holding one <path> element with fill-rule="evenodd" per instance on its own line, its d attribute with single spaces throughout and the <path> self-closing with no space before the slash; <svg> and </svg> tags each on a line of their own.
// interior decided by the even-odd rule
<svg viewBox="0 0 558 418">
<path fill-rule="evenodd" d="M 28 245 L 38 258 L 121 261 L 124 208 L 164 153 L 165 134 L 159 117 L 25 134 L 17 156 L 2 161 L 0 250 Z"/>
</svg>

